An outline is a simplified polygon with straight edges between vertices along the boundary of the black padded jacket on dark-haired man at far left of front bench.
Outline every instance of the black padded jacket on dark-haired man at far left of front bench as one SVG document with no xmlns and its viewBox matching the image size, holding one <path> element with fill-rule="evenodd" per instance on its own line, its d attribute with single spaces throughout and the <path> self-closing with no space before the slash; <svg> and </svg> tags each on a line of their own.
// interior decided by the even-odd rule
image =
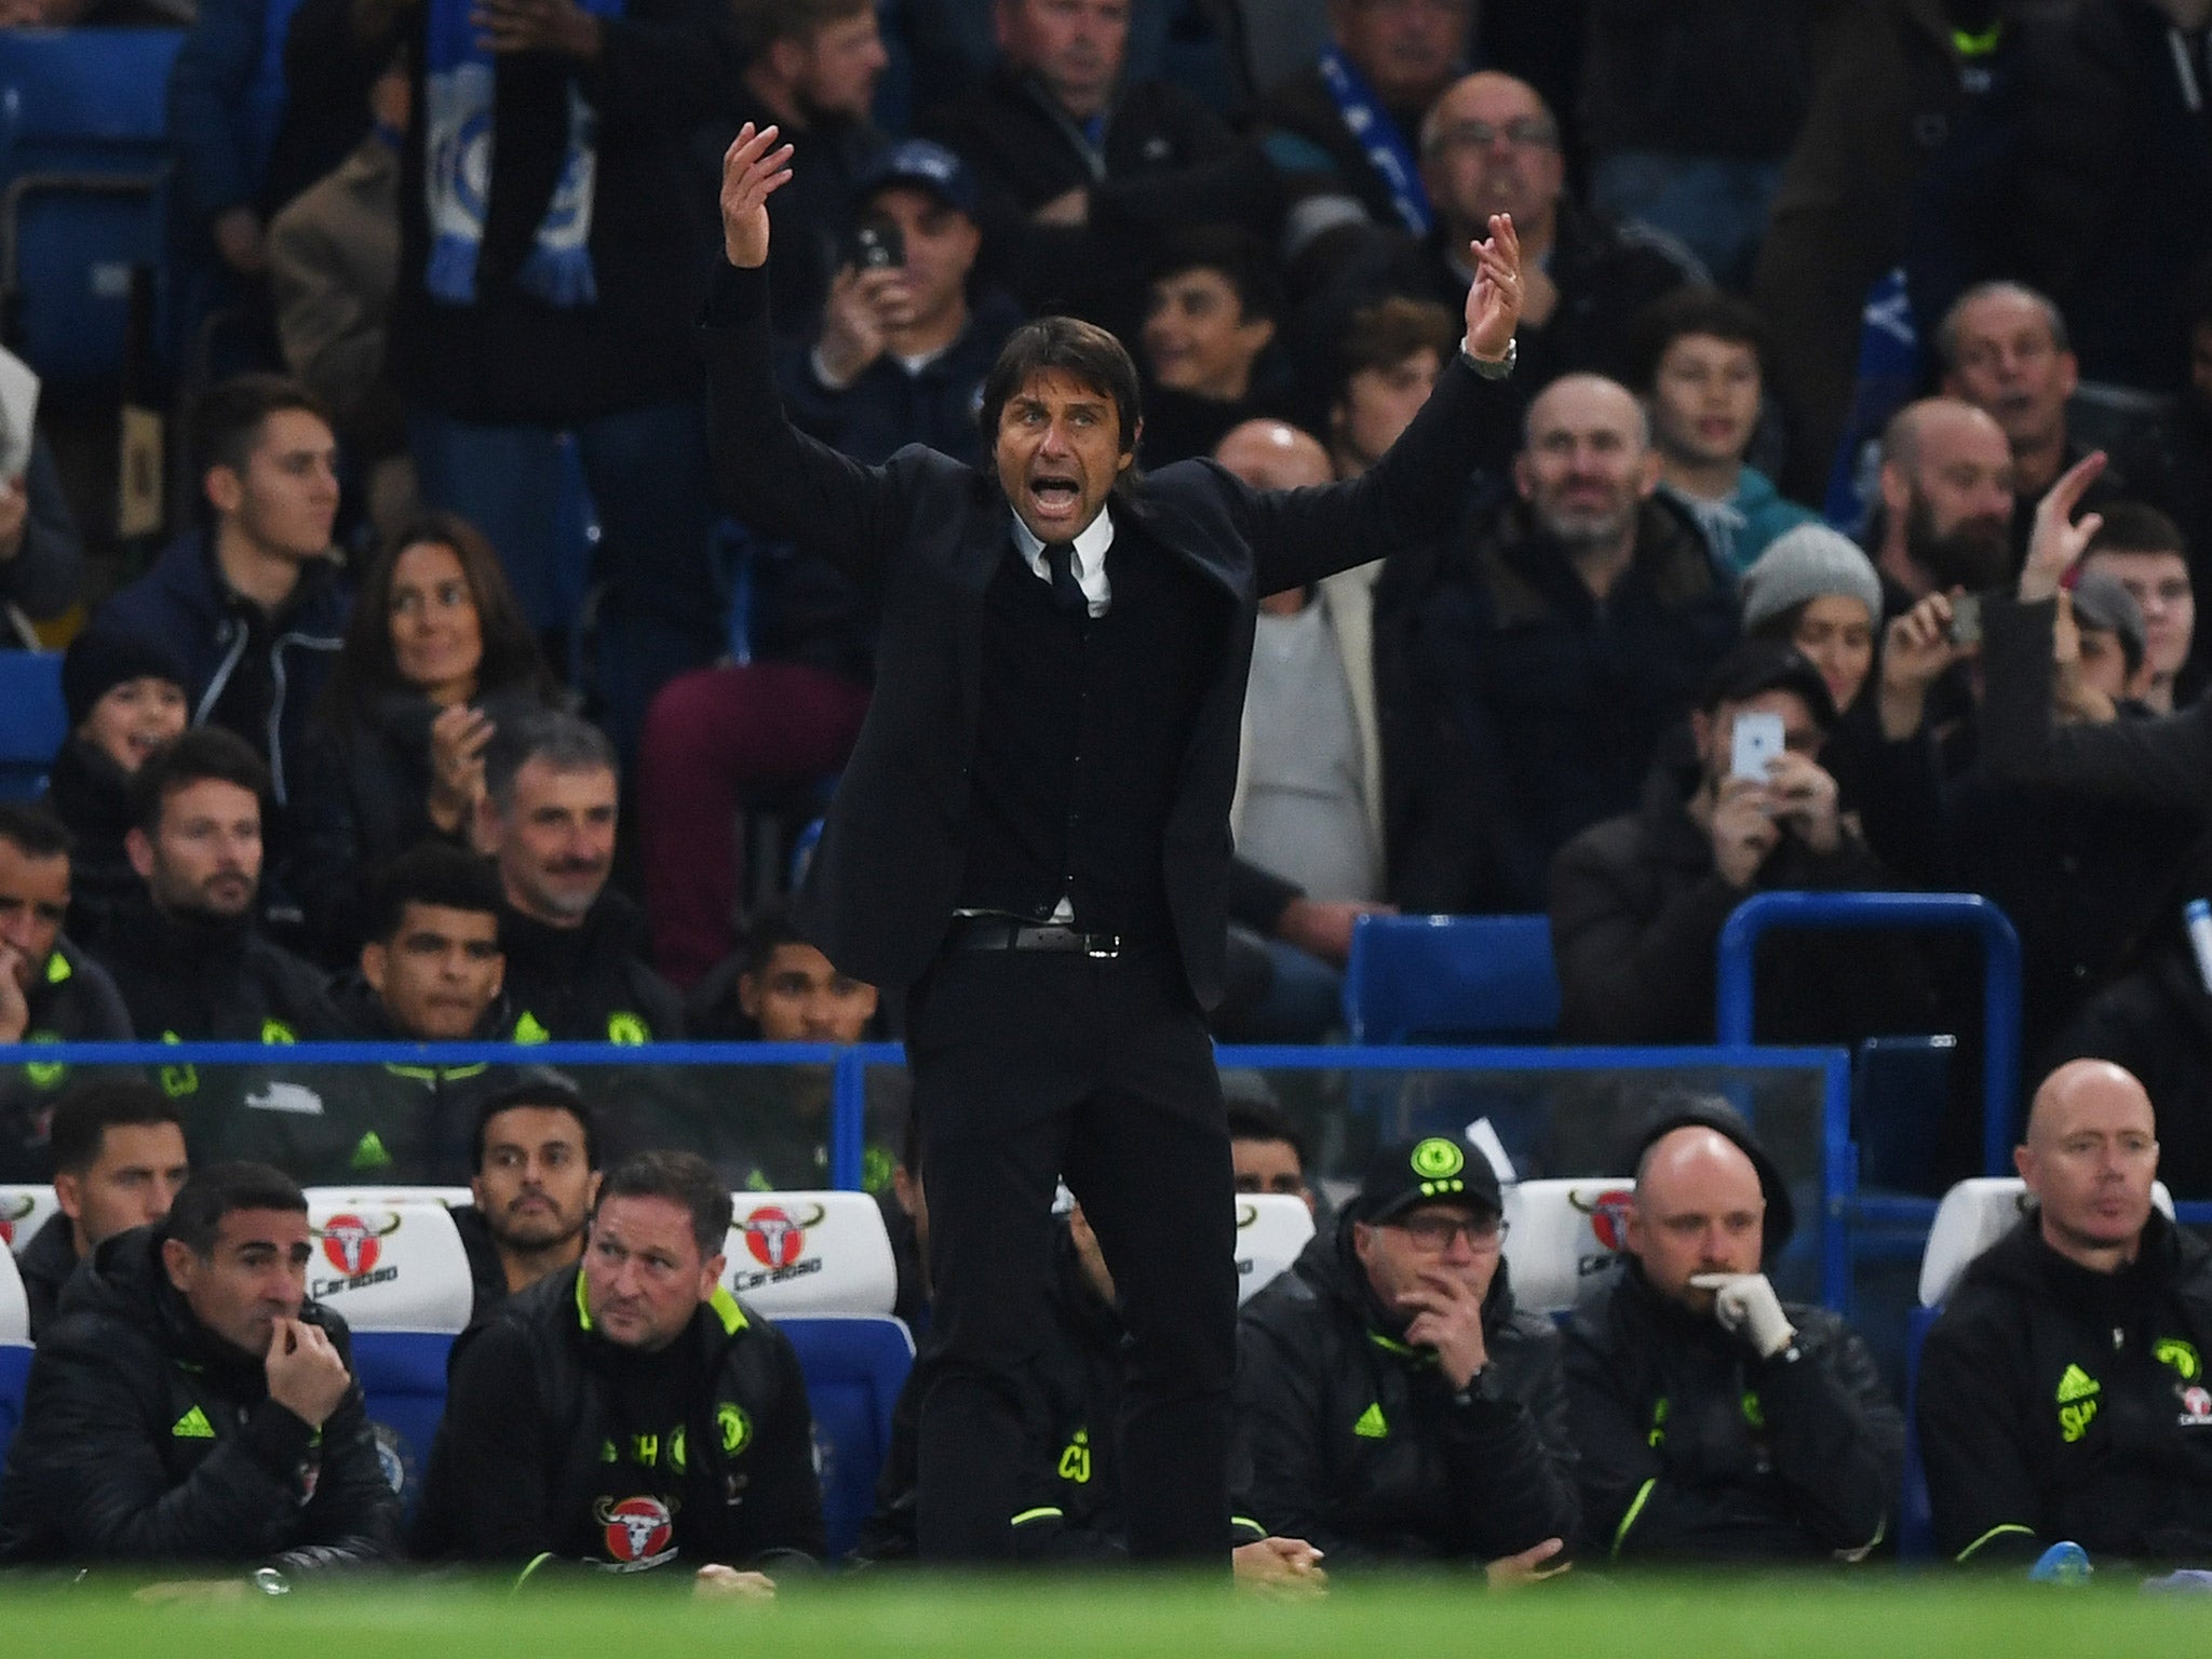
<svg viewBox="0 0 2212 1659">
<path fill-rule="evenodd" d="M 301 1318 L 352 1365 L 343 1318 Z M 261 1358 L 170 1290 L 155 1228 L 71 1279 L 0 1480 L 0 1562 L 354 1566 L 389 1555 L 398 1513 L 361 1385 L 321 1431 L 270 1400 Z"/>
</svg>

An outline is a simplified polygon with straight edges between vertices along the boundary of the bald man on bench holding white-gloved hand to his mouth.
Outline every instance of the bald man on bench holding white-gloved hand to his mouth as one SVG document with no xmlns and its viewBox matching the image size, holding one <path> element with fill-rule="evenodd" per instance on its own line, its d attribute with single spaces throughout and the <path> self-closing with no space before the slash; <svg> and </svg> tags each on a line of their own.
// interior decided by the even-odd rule
<svg viewBox="0 0 2212 1659">
<path fill-rule="evenodd" d="M 1790 1221 L 1725 1106 L 1648 1133 L 1628 1263 L 1566 1332 L 1584 1559 L 1863 1562 L 1889 1535 L 1905 1420 L 1865 1343 L 1767 1283 Z"/>
</svg>

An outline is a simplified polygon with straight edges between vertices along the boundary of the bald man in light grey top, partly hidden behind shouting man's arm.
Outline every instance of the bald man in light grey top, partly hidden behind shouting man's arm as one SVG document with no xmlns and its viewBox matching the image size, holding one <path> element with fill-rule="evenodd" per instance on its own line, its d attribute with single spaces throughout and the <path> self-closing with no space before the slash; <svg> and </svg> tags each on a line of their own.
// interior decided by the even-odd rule
<svg viewBox="0 0 2212 1659">
<path fill-rule="evenodd" d="M 1256 489 L 1334 478 L 1321 440 L 1283 420 L 1232 427 L 1214 460 Z M 1230 918 L 1250 936 L 1237 956 L 1263 967 L 1263 978 L 1217 1018 L 1237 1040 L 1312 1042 L 1336 1026 L 1352 925 L 1383 909 L 1378 568 L 1363 564 L 1259 602 L 1230 803 Z"/>
</svg>

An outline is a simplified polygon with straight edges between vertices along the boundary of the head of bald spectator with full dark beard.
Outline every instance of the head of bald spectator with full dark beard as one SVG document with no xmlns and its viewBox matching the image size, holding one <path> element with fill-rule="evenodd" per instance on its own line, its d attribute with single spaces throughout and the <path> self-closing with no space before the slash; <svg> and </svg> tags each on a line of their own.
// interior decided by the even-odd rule
<svg viewBox="0 0 2212 1659">
<path fill-rule="evenodd" d="M 1958 398 L 1922 398 L 1882 431 L 1882 509 L 1869 529 L 1885 608 L 1982 593 L 2011 568 L 2013 456 L 2004 429 Z"/>
</svg>

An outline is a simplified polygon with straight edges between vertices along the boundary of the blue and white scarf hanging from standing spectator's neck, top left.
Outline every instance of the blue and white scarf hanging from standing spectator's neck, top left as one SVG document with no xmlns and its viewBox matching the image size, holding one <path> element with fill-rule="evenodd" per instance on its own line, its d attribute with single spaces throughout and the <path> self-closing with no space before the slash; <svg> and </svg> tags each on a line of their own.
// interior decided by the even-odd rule
<svg viewBox="0 0 2212 1659">
<path fill-rule="evenodd" d="M 580 0 L 595 18 L 619 18 L 622 0 Z M 476 263 L 484 252 L 484 204 L 491 197 L 491 53 L 469 22 L 471 0 L 429 0 L 422 64 L 429 270 L 422 285 L 447 305 L 476 303 Z M 531 252 L 515 281 L 549 305 L 591 305 L 599 283 L 591 270 L 591 197 L 599 170 L 599 117 L 568 84 L 568 153 Z"/>
</svg>

